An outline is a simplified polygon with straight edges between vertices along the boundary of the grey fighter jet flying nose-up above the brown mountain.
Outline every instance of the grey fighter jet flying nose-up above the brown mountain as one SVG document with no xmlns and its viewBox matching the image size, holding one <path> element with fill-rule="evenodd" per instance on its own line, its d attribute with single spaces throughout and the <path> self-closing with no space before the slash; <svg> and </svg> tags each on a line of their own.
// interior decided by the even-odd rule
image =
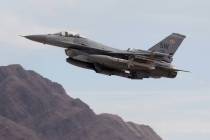
<svg viewBox="0 0 210 140">
<path fill-rule="evenodd" d="M 171 64 L 175 52 L 185 39 L 184 35 L 178 33 L 172 33 L 148 50 L 120 50 L 68 32 L 24 37 L 64 48 L 68 63 L 109 76 L 130 79 L 175 78 L 177 72 L 187 72 Z"/>
</svg>

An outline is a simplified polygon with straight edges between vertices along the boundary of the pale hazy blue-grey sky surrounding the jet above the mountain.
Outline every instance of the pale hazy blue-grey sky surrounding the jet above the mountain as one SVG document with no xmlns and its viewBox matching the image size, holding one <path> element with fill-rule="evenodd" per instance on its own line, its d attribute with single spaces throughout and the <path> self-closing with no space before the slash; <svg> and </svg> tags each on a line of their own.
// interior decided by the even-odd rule
<svg viewBox="0 0 210 140">
<path fill-rule="evenodd" d="M 148 124 L 164 140 L 210 138 L 209 0 L 0 0 L 0 65 L 21 64 L 61 83 L 96 113 Z M 65 62 L 64 50 L 18 35 L 74 31 L 112 47 L 148 49 L 178 32 L 176 79 L 129 80 Z"/>
</svg>

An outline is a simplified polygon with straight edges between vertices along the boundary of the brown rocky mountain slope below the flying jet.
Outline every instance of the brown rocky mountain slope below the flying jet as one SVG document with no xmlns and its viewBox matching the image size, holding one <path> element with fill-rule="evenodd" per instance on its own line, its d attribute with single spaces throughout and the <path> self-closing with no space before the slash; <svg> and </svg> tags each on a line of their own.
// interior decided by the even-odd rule
<svg viewBox="0 0 210 140">
<path fill-rule="evenodd" d="M 63 87 L 20 65 L 0 67 L 0 140 L 161 140 L 149 127 L 96 115 Z"/>
</svg>

